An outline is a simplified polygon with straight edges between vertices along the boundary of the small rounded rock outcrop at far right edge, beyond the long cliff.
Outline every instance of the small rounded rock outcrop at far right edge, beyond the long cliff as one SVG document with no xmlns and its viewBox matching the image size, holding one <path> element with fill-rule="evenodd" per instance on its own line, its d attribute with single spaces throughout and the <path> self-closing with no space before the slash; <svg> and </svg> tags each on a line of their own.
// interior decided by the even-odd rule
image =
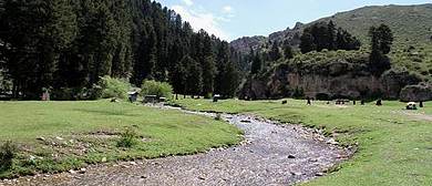
<svg viewBox="0 0 432 186">
<path fill-rule="evenodd" d="M 400 100 L 404 102 L 420 102 L 432 100 L 432 89 L 429 84 L 408 85 L 401 91 Z"/>
</svg>

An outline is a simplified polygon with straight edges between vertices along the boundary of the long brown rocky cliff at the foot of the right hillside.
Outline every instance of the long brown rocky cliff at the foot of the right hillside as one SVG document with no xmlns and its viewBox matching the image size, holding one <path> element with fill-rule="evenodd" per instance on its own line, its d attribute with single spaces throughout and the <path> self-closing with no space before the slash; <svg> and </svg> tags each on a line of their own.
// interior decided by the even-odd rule
<svg viewBox="0 0 432 186">
<path fill-rule="evenodd" d="M 291 96 L 296 89 L 301 87 L 305 96 L 311 97 L 399 99 L 403 87 L 419 82 L 420 78 L 407 71 L 388 70 L 374 75 L 370 72 L 367 56 L 323 64 L 289 62 L 275 66 L 264 75 L 249 76 L 240 87 L 239 97 L 280 99 Z"/>
</svg>

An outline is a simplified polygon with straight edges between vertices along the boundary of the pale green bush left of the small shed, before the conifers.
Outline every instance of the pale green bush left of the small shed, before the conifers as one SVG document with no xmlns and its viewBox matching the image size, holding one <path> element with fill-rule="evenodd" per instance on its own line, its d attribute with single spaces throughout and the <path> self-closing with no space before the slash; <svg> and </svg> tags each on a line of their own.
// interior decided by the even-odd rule
<svg viewBox="0 0 432 186">
<path fill-rule="evenodd" d="M 93 85 L 91 99 L 122 99 L 127 100 L 127 91 L 131 85 L 125 80 L 103 76 Z"/>
</svg>

